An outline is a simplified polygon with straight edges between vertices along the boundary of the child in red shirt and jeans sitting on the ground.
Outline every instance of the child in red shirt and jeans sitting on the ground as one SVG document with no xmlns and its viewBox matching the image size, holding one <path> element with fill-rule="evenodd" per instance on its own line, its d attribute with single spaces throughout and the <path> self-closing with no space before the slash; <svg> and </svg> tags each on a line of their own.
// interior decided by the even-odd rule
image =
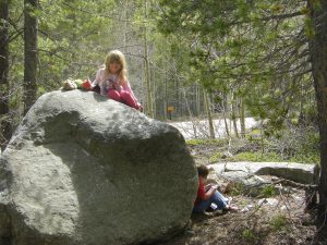
<svg viewBox="0 0 327 245">
<path fill-rule="evenodd" d="M 206 181 L 209 170 L 206 166 L 197 167 L 198 189 L 197 197 L 194 203 L 193 212 L 204 212 L 211 210 L 238 210 L 235 206 L 231 206 L 231 198 L 226 198 L 217 191 L 216 185 L 208 185 L 206 189 Z"/>
</svg>

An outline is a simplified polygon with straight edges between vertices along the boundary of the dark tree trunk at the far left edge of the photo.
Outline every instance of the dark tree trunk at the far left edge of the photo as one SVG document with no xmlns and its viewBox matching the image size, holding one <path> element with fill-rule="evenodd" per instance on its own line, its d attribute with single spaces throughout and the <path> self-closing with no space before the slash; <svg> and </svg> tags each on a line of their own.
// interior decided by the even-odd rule
<svg viewBox="0 0 327 245">
<path fill-rule="evenodd" d="M 0 1 L 0 147 L 11 137 L 9 120 L 9 0 Z"/>
</svg>

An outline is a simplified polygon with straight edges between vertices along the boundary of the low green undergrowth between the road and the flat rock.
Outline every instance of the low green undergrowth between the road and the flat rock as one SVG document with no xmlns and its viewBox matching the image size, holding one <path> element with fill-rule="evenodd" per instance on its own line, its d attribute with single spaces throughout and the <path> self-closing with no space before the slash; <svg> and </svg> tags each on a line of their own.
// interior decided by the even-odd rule
<svg viewBox="0 0 327 245">
<path fill-rule="evenodd" d="M 298 131 L 300 131 L 299 128 Z M 232 139 L 231 151 L 238 154 L 232 157 L 222 159 L 222 155 L 228 148 L 228 138 L 218 139 L 189 139 L 186 144 L 190 147 L 208 147 L 207 152 L 211 154 L 208 157 L 209 162 L 217 161 L 252 161 L 252 162 L 300 162 L 300 163 L 317 163 L 320 162 L 318 143 L 319 137 L 315 131 L 306 132 L 306 134 L 282 131 L 282 137 L 271 136 L 264 137 L 262 143 L 261 131 L 255 128 L 245 135 L 242 139 Z M 300 136 L 296 136 L 296 135 Z M 293 137 L 294 136 L 294 137 Z M 290 138 L 291 137 L 291 138 Z M 265 152 L 262 154 L 261 148 L 265 147 Z M 283 147 L 279 147 L 283 146 Z M 210 152 L 211 150 L 211 152 Z M 283 150 L 280 152 L 279 150 Z"/>
</svg>

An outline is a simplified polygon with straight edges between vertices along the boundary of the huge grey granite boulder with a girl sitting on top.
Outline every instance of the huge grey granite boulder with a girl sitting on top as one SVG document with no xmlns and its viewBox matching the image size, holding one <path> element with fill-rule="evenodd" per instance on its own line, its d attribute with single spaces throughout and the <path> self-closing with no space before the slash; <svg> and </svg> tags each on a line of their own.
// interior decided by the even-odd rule
<svg viewBox="0 0 327 245">
<path fill-rule="evenodd" d="M 181 231 L 197 174 L 172 126 L 92 91 L 53 91 L 0 158 L 0 244 L 120 245 Z"/>
</svg>

